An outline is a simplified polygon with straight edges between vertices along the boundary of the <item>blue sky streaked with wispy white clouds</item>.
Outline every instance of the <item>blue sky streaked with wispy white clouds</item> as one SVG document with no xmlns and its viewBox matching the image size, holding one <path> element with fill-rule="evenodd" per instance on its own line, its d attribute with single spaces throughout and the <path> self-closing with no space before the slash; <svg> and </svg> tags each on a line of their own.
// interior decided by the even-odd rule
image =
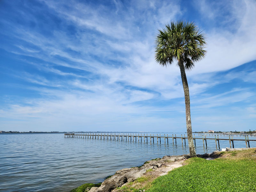
<svg viewBox="0 0 256 192">
<path fill-rule="evenodd" d="M 206 57 L 187 71 L 193 131 L 256 124 L 256 1 L 0 1 L 0 130 L 186 132 L 176 64 L 157 29 L 194 21 Z"/>
</svg>

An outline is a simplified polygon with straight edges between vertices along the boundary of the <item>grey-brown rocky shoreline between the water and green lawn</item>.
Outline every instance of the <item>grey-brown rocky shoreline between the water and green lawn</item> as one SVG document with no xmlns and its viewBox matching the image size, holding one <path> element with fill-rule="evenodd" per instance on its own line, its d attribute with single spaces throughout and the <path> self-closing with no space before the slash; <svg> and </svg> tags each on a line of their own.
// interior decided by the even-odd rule
<svg viewBox="0 0 256 192">
<path fill-rule="evenodd" d="M 220 151 L 214 151 L 212 153 L 205 153 L 203 155 L 198 154 L 197 157 L 202 158 L 216 158 L 220 154 Z M 84 189 L 84 192 L 114 192 L 119 187 L 123 187 L 128 183 L 146 176 L 147 174 L 154 174 L 155 178 L 167 174 L 174 168 L 183 165 L 183 162 L 190 158 L 189 155 L 180 156 L 164 156 L 163 158 L 157 158 L 146 161 L 140 167 L 124 168 L 116 171 L 116 173 L 104 180 L 100 187 L 88 187 Z M 72 190 L 73 191 L 73 190 Z"/>
</svg>

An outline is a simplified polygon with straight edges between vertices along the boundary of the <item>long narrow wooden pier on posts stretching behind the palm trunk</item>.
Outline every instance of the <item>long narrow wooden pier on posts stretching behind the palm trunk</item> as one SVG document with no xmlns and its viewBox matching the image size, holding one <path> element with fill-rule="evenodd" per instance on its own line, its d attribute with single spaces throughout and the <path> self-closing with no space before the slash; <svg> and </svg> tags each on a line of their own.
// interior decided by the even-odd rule
<svg viewBox="0 0 256 192">
<path fill-rule="evenodd" d="M 244 141 L 246 148 L 250 148 L 250 141 L 256 141 L 253 139 L 249 139 L 248 136 L 244 136 L 244 139 L 234 139 L 233 135 L 228 135 L 228 138 L 219 138 L 219 135 L 215 135 L 215 138 L 206 138 L 206 135 L 201 135 L 202 137 L 199 138 L 199 135 L 193 135 L 193 140 L 194 140 L 194 144 L 196 146 L 196 140 L 201 140 L 203 141 L 203 146 L 205 145 L 207 148 L 207 140 L 215 140 L 215 144 L 216 144 L 216 149 L 217 148 L 217 142 L 218 142 L 218 147 L 220 149 L 220 141 L 221 140 L 228 140 L 229 144 L 230 144 L 230 148 L 234 148 L 234 141 Z M 172 134 L 172 135 L 168 135 L 168 134 L 137 134 L 137 133 L 65 133 L 64 137 L 71 137 L 71 138 L 85 138 L 85 139 L 98 139 L 98 140 L 119 140 L 119 141 L 135 141 L 135 142 L 142 142 L 142 140 L 144 141 L 144 143 L 155 143 L 155 141 L 158 143 L 160 142 L 161 144 L 161 140 L 164 139 L 164 143 L 169 144 L 169 140 L 171 139 L 172 144 L 174 144 L 175 141 L 175 145 L 177 145 L 177 139 L 181 139 L 181 144 L 183 146 L 183 141 L 184 144 L 186 145 L 186 139 L 188 139 L 188 137 L 186 137 L 186 135 L 176 135 L 176 134 Z M 231 143 L 232 143 L 232 147 L 231 147 Z"/>
</svg>

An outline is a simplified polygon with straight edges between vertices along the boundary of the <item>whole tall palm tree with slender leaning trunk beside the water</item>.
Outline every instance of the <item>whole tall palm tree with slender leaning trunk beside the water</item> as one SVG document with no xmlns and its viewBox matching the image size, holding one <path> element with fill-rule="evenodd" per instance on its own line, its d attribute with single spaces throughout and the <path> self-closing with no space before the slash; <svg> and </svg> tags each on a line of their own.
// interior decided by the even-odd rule
<svg viewBox="0 0 256 192">
<path fill-rule="evenodd" d="M 199 31 L 194 22 L 177 21 L 166 24 L 163 30 L 159 30 L 156 36 L 156 55 L 155 59 L 162 66 L 171 65 L 177 61 L 180 68 L 181 80 L 185 94 L 186 105 L 186 123 L 188 134 L 188 145 L 191 157 L 196 156 L 193 143 L 191 117 L 190 117 L 190 99 L 188 90 L 188 81 L 185 70 L 191 70 L 194 62 L 204 58 L 206 51 L 205 36 Z"/>
</svg>

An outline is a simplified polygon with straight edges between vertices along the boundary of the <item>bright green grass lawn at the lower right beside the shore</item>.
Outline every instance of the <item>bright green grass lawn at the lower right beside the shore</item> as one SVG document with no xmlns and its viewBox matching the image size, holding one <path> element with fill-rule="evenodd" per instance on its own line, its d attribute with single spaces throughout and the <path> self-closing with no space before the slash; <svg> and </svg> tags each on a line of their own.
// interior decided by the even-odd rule
<svg viewBox="0 0 256 192">
<path fill-rule="evenodd" d="M 220 158 L 210 161 L 188 159 L 186 165 L 154 180 L 146 192 L 256 191 L 254 150 L 220 152 Z"/>
</svg>

